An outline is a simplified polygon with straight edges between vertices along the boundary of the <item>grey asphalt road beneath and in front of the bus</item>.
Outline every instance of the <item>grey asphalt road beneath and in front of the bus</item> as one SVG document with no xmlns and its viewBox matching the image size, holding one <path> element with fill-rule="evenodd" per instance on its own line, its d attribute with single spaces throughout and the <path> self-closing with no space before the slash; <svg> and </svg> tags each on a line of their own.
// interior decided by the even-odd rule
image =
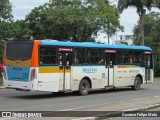
<svg viewBox="0 0 160 120">
<path fill-rule="evenodd" d="M 160 80 L 157 80 L 153 84 L 143 85 L 139 91 L 132 91 L 131 88 L 118 88 L 112 91 L 92 91 L 87 96 L 78 96 L 73 93 L 57 96 L 50 92 L 0 89 L 0 111 L 76 110 L 100 104 L 115 104 L 128 100 L 160 96 L 159 86 Z"/>
</svg>

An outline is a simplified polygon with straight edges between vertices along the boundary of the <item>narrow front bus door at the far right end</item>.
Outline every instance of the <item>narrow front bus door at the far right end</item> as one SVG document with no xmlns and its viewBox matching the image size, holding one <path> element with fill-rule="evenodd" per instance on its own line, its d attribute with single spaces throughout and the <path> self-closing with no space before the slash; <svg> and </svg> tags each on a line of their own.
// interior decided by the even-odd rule
<svg viewBox="0 0 160 120">
<path fill-rule="evenodd" d="M 145 81 L 146 83 L 151 82 L 151 69 L 152 69 L 152 54 L 151 52 L 145 51 L 144 55 L 144 65 L 145 65 Z"/>
</svg>

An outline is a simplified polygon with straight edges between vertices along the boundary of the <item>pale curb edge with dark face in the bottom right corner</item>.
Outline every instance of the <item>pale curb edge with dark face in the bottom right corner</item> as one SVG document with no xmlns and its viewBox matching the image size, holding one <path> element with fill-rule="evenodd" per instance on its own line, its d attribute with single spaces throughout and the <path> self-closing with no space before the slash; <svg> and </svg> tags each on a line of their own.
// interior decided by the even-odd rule
<svg viewBox="0 0 160 120">
<path fill-rule="evenodd" d="M 72 119 L 72 120 L 102 120 L 102 119 L 106 119 L 109 117 L 120 117 L 122 116 L 122 113 L 136 113 L 136 112 L 142 112 L 145 110 L 150 110 L 150 109 L 154 109 L 154 108 L 158 108 L 160 107 L 160 103 L 159 104 L 153 104 L 153 105 L 148 105 L 148 106 L 144 106 L 144 107 L 140 107 L 140 108 L 133 108 L 133 109 L 128 109 L 128 110 L 122 110 L 122 111 L 109 111 L 106 114 L 103 115 L 99 115 L 97 117 L 83 117 L 83 118 L 78 118 L 78 119 Z"/>
</svg>

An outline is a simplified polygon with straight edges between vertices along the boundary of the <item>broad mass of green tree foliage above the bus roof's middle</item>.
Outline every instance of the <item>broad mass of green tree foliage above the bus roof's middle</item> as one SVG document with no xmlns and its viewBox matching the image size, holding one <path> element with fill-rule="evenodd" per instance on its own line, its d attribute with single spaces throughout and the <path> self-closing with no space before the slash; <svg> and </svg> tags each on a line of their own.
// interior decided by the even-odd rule
<svg viewBox="0 0 160 120">
<path fill-rule="evenodd" d="M 121 28 L 116 8 L 108 0 L 51 0 L 27 15 L 34 39 L 88 41 L 99 30 L 114 34 Z M 109 27 L 108 27 L 109 24 Z"/>
</svg>

